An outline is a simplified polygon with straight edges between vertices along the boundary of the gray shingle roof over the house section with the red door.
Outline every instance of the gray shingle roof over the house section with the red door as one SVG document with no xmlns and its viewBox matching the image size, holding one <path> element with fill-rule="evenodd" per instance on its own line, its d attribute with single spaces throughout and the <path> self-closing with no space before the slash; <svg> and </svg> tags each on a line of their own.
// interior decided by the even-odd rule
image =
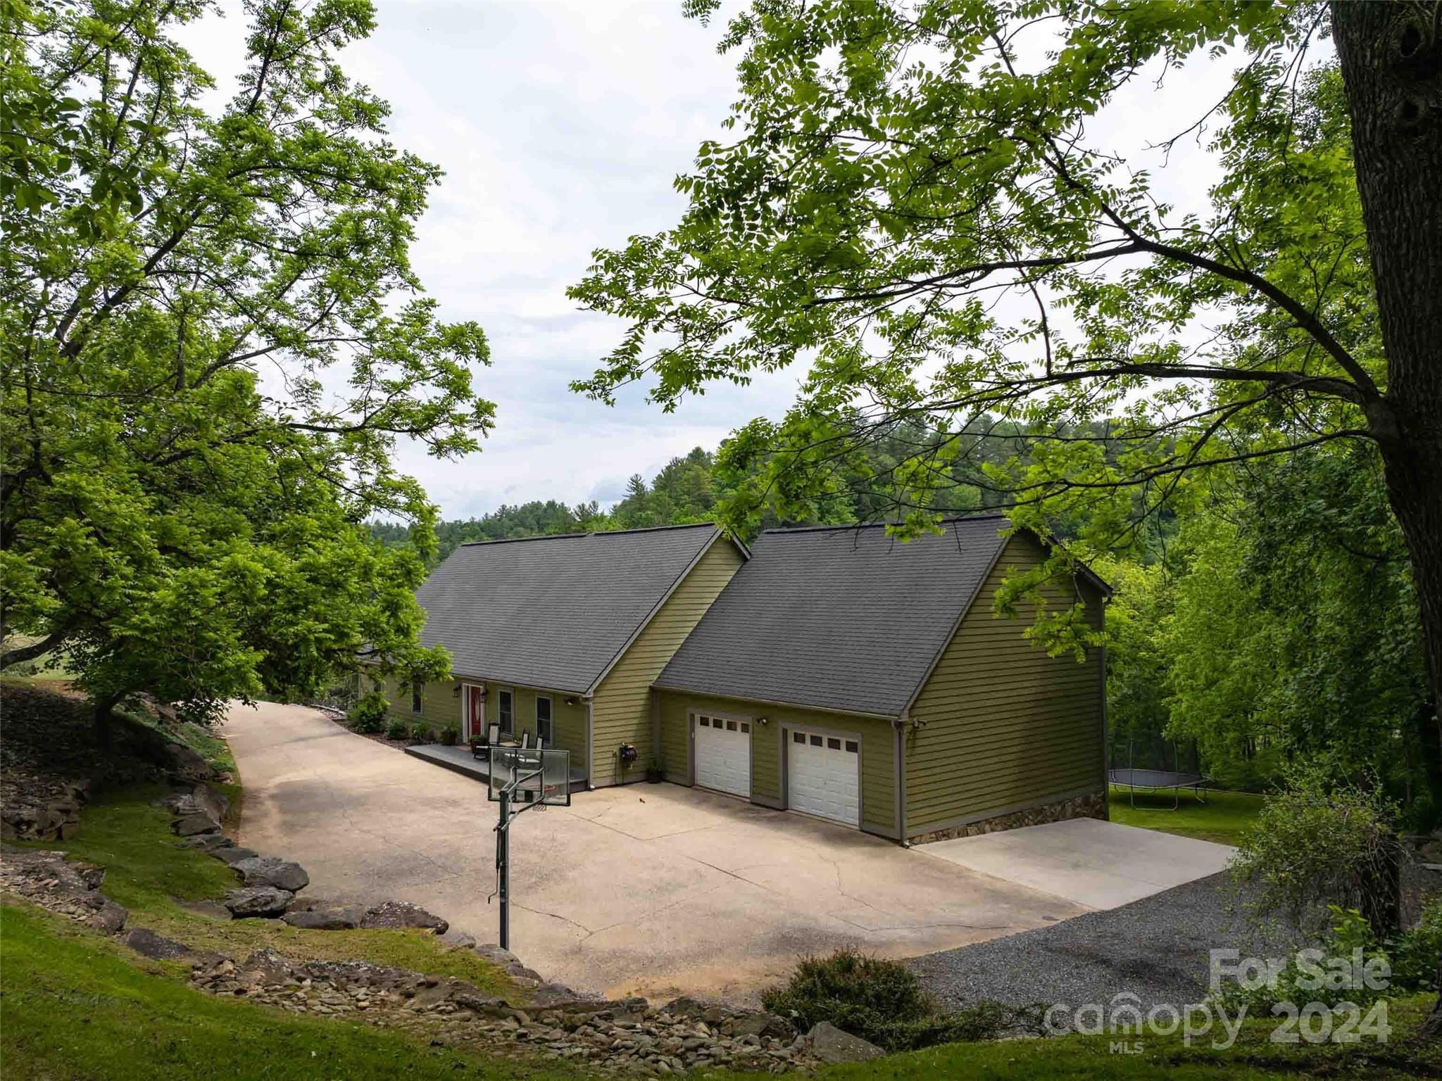
<svg viewBox="0 0 1442 1081">
<path fill-rule="evenodd" d="M 461 545 L 417 592 L 457 675 L 584 692 L 720 530 L 711 523 Z"/>
</svg>

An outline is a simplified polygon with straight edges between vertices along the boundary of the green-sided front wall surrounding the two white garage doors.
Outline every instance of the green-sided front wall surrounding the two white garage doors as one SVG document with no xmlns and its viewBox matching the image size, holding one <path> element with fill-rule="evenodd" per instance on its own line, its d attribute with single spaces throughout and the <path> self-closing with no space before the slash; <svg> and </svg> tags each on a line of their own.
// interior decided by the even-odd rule
<svg viewBox="0 0 1442 1081">
<path fill-rule="evenodd" d="M 792 726 L 845 734 L 861 741 L 861 826 L 895 836 L 895 739 L 890 721 L 658 690 L 660 758 L 666 780 L 691 784 L 691 715 L 720 713 L 751 722 L 751 801 L 784 807 L 782 745 Z M 761 724 L 766 718 L 766 724 Z"/>
</svg>

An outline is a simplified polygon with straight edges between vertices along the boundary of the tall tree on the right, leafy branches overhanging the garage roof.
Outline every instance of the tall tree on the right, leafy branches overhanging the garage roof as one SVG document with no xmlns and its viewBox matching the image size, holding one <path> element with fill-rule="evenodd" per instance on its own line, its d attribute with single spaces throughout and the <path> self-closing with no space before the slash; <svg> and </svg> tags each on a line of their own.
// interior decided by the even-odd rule
<svg viewBox="0 0 1442 1081">
<path fill-rule="evenodd" d="M 1017 422 L 1030 458 L 989 484 L 1041 530 L 1090 503 L 1080 551 L 1136 543 L 1197 468 L 1361 441 L 1406 539 L 1435 711 L 1439 10 L 757 1 L 722 40 L 735 135 L 678 179 L 681 222 L 597 251 L 571 291 L 629 324 L 577 389 L 646 381 L 669 409 L 808 359 L 786 421 L 750 432 L 771 489 L 800 500 L 784 474 L 914 419 L 939 438 L 894 476 L 913 530 L 978 417 Z M 1317 65 L 1328 36 L 1340 63 Z M 1234 58 L 1229 92 L 1162 140 L 1217 131 L 1221 180 L 1191 215 L 1093 131 L 1122 86 L 1208 52 Z"/>
</svg>

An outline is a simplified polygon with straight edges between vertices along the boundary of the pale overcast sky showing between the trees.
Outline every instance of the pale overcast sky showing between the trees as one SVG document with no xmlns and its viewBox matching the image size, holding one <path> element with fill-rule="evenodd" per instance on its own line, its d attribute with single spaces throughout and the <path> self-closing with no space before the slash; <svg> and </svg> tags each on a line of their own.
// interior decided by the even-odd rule
<svg viewBox="0 0 1442 1081">
<path fill-rule="evenodd" d="M 684 19 L 681 0 L 476 0 L 382 1 L 378 23 L 345 68 L 391 102 L 392 140 L 446 170 L 420 223 L 415 270 L 443 317 L 479 321 L 492 346 L 474 381 L 497 405 L 483 451 L 435 463 L 402 450 L 402 467 L 446 517 L 532 499 L 610 503 L 632 473 L 650 477 L 753 417 L 780 417 L 803 372 L 720 386 L 672 415 L 639 388 L 607 408 L 567 386 L 596 368 L 622 324 L 578 311 L 565 288 L 594 248 L 673 225 L 684 202 L 672 180 L 721 134 L 735 99 L 734 59 L 715 52 L 721 22 Z M 234 12 L 185 42 L 224 79 L 239 69 L 242 33 Z M 1128 151 L 1175 134 L 1221 95 L 1227 68 L 1203 59 L 1161 92 L 1138 85 L 1093 134 Z M 1206 164 L 1182 147 L 1161 190 L 1200 208 L 1214 176 Z"/>
</svg>

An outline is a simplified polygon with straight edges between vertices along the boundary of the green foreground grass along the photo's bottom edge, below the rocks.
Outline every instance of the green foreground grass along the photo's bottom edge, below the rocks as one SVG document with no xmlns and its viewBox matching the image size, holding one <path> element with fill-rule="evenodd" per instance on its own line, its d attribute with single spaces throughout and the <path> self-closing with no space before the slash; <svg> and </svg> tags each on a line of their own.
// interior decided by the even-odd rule
<svg viewBox="0 0 1442 1081">
<path fill-rule="evenodd" d="M 0 1051 L 7 1081 L 597 1077 L 578 1068 L 506 1062 L 430 1046 L 358 1022 L 303 1018 L 203 995 L 118 943 L 29 907 L 0 907 Z M 1416 1056 L 1405 1044 L 1406 1031 L 1420 1020 L 1425 1007 L 1426 999 L 1394 1003 L 1393 1025 L 1400 1042 L 1386 1048 L 1278 1046 L 1266 1042 L 1263 1026 L 1252 1025 L 1226 1052 L 1188 1049 L 1178 1038 L 1145 1041 L 1139 1054 L 1125 1055 L 1113 1054 L 1105 1036 L 952 1044 L 822 1069 L 818 1080 L 1435 1077 L 1442 1058 Z M 738 1081 L 743 1075 L 707 1077 Z"/>
</svg>

